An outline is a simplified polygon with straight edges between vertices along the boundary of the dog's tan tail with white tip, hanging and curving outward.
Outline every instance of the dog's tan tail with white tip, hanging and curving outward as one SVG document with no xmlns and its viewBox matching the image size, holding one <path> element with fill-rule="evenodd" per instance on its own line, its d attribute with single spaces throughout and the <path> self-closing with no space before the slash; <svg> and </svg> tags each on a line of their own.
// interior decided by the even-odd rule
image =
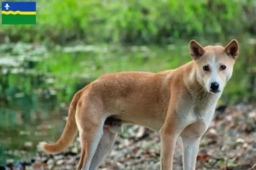
<svg viewBox="0 0 256 170">
<path fill-rule="evenodd" d="M 73 142 L 73 139 L 78 132 L 78 127 L 75 120 L 76 107 L 82 93 L 83 90 L 80 90 L 77 94 L 74 95 L 72 99 L 68 111 L 67 124 L 63 133 L 61 134 L 61 138 L 55 144 L 47 144 L 45 142 L 39 143 L 38 150 L 44 150 L 47 153 L 55 154 L 61 152 L 61 150 L 66 149 L 67 146 Z"/>
</svg>

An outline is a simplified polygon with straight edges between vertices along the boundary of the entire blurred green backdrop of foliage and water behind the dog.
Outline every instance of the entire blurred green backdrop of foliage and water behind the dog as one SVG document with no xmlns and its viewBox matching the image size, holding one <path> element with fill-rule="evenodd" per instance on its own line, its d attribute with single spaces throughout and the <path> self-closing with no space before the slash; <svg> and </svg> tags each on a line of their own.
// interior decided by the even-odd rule
<svg viewBox="0 0 256 170">
<path fill-rule="evenodd" d="M 220 104 L 256 96 L 256 1 L 38 0 L 37 25 L 0 26 L 0 165 L 59 138 L 73 94 L 104 73 L 164 71 L 189 41 L 240 42 Z"/>
</svg>

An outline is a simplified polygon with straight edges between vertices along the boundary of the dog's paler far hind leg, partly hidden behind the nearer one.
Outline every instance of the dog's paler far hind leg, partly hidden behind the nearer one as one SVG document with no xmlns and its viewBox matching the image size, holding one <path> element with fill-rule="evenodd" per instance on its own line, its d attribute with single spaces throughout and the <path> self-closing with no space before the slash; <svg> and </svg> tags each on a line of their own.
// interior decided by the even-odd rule
<svg viewBox="0 0 256 170">
<path fill-rule="evenodd" d="M 104 161 L 109 151 L 112 149 L 116 136 L 117 133 L 113 133 L 109 127 L 104 127 L 104 134 L 90 162 L 90 170 L 96 170 L 100 167 L 102 161 Z"/>
</svg>

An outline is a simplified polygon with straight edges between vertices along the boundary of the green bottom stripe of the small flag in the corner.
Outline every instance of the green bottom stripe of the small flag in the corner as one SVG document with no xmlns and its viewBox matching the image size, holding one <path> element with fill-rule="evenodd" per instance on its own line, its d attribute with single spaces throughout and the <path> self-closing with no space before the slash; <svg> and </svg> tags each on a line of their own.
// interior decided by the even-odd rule
<svg viewBox="0 0 256 170">
<path fill-rule="evenodd" d="M 33 14 L 2 14 L 2 24 L 36 24 L 37 15 Z"/>
</svg>

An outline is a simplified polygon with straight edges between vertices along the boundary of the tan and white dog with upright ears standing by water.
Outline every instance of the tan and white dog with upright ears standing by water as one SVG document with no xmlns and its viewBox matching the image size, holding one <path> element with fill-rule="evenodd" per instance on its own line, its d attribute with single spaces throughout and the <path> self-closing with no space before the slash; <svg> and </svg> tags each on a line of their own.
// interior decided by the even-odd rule
<svg viewBox="0 0 256 170">
<path fill-rule="evenodd" d="M 174 70 L 119 72 L 91 82 L 74 95 L 61 138 L 39 147 L 48 153 L 61 152 L 79 131 L 78 169 L 95 170 L 112 149 L 123 124 L 137 124 L 160 132 L 162 170 L 172 170 L 179 136 L 183 169 L 194 170 L 201 137 L 232 76 L 239 45 L 234 39 L 225 47 L 202 47 L 191 40 L 189 52 L 192 60 Z"/>
</svg>

